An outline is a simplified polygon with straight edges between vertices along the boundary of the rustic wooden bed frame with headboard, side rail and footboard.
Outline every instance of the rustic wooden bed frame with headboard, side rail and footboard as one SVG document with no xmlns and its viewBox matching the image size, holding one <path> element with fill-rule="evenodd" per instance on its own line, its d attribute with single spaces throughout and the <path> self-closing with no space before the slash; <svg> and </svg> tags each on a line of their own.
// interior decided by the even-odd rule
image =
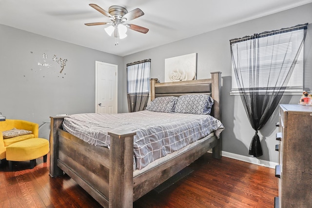
<svg viewBox="0 0 312 208">
<path fill-rule="evenodd" d="M 151 100 L 160 96 L 210 94 L 215 104 L 213 115 L 221 120 L 221 72 L 211 79 L 157 83 L 151 79 Z M 133 202 L 213 148 L 213 156 L 221 157 L 221 138 L 215 136 L 189 150 L 133 176 L 133 137 L 135 132 L 108 132 L 110 149 L 93 146 L 62 130 L 64 117 L 51 118 L 50 176 L 74 179 L 103 207 L 133 207 Z"/>
</svg>

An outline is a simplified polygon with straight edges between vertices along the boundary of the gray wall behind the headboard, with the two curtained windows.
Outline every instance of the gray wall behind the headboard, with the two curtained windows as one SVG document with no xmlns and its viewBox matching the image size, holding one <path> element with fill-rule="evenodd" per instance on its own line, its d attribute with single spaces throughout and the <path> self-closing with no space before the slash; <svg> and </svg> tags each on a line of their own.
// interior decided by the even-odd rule
<svg viewBox="0 0 312 208">
<path fill-rule="evenodd" d="M 158 78 L 164 82 L 165 59 L 180 55 L 197 53 L 197 79 L 210 78 L 210 72 L 222 72 L 222 123 L 225 130 L 222 133 L 222 150 L 248 155 L 251 138 L 254 130 L 249 124 L 245 110 L 239 96 L 230 96 L 231 91 L 231 54 L 229 40 L 253 35 L 263 31 L 271 31 L 297 24 L 312 22 L 312 3 L 290 10 L 282 11 L 252 21 L 246 21 L 233 26 L 221 28 L 195 37 L 162 45 L 123 58 L 124 63 L 152 59 L 151 78 Z M 312 89 L 312 28 L 308 29 L 308 35 L 304 48 L 305 79 L 304 86 Z M 123 70 L 123 83 L 126 83 L 126 69 Z M 126 95 L 126 86 L 123 87 L 123 97 Z M 281 103 L 297 104 L 300 95 L 284 96 Z M 127 111 L 126 102 L 123 102 L 123 110 Z M 275 133 L 277 128 L 278 113 L 275 111 L 269 122 L 260 130 L 259 137 L 263 148 L 263 156 L 258 159 L 277 163 L 277 152 L 274 150 Z"/>
</svg>

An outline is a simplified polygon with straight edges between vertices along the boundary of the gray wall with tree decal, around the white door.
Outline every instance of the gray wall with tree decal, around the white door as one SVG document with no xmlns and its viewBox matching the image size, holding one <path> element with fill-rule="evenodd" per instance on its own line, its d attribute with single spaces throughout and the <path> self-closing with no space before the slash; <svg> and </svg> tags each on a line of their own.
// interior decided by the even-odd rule
<svg viewBox="0 0 312 208">
<path fill-rule="evenodd" d="M 54 55 L 68 60 L 61 74 Z M 0 24 L 0 112 L 42 125 L 48 139 L 50 116 L 95 112 L 95 61 L 117 64 L 122 88 L 122 57 Z"/>
</svg>

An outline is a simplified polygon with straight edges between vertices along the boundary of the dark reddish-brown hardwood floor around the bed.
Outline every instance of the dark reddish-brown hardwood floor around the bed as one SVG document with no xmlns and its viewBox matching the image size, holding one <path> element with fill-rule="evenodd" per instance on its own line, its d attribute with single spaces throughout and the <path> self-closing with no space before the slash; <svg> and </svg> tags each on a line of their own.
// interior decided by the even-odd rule
<svg viewBox="0 0 312 208">
<path fill-rule="evenodd" d="M 69 176 L 51 178 L 48 162 L 0 165 L 0 207 L 98 208 L 101 207 Z M 194 170 L 161 192 L 150 191 L 134 208 L 273 208 L 277 193 L 274 169 L 206 153 L 188 166 Z"/>
</svg>

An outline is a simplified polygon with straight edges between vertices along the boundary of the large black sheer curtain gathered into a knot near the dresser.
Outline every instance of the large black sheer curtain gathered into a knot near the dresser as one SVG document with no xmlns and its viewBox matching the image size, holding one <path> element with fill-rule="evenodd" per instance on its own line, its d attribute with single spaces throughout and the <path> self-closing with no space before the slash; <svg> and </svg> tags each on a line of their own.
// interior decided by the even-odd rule
<svg viewBox="0 0 312 208">
<path fill-rule="evenodd" d="M 307 28 L 308 23 L 230 40 L 237 87 L 255 130 L 249 147 L 254 157 L 262 155 L 258 130 L 269 120 L 287 88 Z"/>
</svg>

